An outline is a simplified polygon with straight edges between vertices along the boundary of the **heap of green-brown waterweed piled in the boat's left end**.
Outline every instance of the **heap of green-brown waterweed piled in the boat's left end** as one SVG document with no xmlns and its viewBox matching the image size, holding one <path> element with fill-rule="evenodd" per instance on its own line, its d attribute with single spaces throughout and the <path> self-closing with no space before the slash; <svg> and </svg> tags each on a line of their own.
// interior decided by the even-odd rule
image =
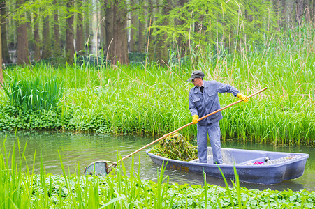
<svg viewBox="0 0 315 209">
<path fill-rule="evenodd" d="M 190 161 L 198 158 L 198 150 L 182 136 L 174 133 L 156 144 L 150 153 L 173 160 Z"/>
</svg>

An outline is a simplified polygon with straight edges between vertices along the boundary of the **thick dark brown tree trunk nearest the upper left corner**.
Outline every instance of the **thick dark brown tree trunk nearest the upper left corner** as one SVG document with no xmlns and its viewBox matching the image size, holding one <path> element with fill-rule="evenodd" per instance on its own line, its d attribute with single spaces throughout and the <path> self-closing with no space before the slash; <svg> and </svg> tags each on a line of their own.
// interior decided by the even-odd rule
<svg viewBox="0 0 315 209">
<path fill-rule="evenodd" d="M 24 0 L 16 1 L 16 8 L 24 6 Z M 24 19 L 21 15 L 21 20 Z M 27 39 L 27 24 L 26 23 L 17 23 L 17 64 L 24 65 L 29 64 L 29 43 Z"/>
</svg>

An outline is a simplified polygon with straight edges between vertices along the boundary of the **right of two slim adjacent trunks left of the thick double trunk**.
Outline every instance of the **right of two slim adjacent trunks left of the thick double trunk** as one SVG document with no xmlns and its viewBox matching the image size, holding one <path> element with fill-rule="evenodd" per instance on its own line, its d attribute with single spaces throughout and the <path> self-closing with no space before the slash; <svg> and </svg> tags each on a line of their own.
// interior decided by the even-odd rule
<svg viewBox="0 0 315 209">
<path fill-rule="evenodd" d="M 78 13 L 77 13 L 77 31 L 75 33 L 75 52 L 83 54 L 83 17 L 82 17 L 82 1 L 77 1 Z"/>
</svg>

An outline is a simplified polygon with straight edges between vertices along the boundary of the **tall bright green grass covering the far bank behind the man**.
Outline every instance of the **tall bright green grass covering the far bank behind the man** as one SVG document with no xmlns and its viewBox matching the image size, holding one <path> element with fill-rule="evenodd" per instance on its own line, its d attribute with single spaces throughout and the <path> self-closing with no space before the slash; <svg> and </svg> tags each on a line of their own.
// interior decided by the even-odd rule
<svg viewBox="0 0 315 209">
<path fill-rule="evenodd" d="M 198 48 L 191 59 L 170 61 L 167 66 L 147 63 L 105 68 L 82 64 L 54 69 L 36 65 L 4 71 L 4 75 L 6 82 L 10 77 L 31 81 L 40 72 L 62 80 L 64 96 L 57 105 L 59 125 L 54 128 L 158 137 L 191 122 L 188 92 L 193 85 L 186 79 L 191 71 L 203 70 L 205 79 L 231 84 L 247 95 L 268 87 L 247 104 L 223 111 L 223 141 L 314 145 L 314 32 L 305 26 L 287 33 L 266 40 L 261 51 L 248 45 L 233 54 L 229 49 Z M 3 95 L 1 98 L 6 100 Z M 219 98 L 221 107 L 237 100 L 225 93 Z M 23 127 L 15 125 L 14 117 L 3 114 L 1 122 L 0 113 L 0 129 Z M 31 128 L 38 127 L 35 124 Z M 196 125 L 186 127 L 181 134 L 194 138 Z"/>
</svg>

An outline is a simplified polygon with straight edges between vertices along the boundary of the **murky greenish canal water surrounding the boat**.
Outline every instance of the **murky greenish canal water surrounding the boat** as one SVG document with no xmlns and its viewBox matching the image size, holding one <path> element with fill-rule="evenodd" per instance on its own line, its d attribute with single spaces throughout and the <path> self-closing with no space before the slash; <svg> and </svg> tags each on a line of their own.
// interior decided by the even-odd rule
<svg viewBox="0 0 315 209">
<path fill-rule="evenodd" d="M 117 161 L 117 153 L 122 157 L 133 153 L 142 146 L 149 144 L 156 138 L 152 137 L 134 137 L 134 136 L 111 136 L 105 134 L 81 134 L 73 132 L 0 132 L 0 141 L 5 141 L 6 150 L 12 150 L 13 144 L 17 139 L 20 141 L 20 153 L 22 153 L 25 144 L 25 157 L 31 170 L 33 167 L 34 154 L 35 164 L 34 173 L 40 170 L 40 155 L 42 153 L 43 166 L 46 173 L 62 174 L 61 155 L 64 168 L 67 175 L 73 173 L 84 173 L 85 167 L 91 162 L 97 160 Z M 258 185 L 252 183 L 241 183 L 242 187 L 248 189 L 291 189 L 298 191 L 307 189 L 315 191 L 315 148 L 305 146 L 282 146 L 274 147 L 266 144 L 222 144 L 226 148 L 242 148 L 249 150 L 270 150 L 292 153 L 308 153 L 309 159 L 305 167 L 305 173 L 300 178 L 294 180 L 285 180 L 277 185 Z M 17 146 L 15 146 L 17 150 Z M 156 180 L 156 173 L 161 170 L 152 160 L 147 157 L 145 150 L 141 150 L 135 155 L 135 170 L 138 171 L 139 157 L 141 165 L 141 178 L 145 180 Z M 12 151 L 11 151 L 12 152 Z M 18 151 L 15 152 L 18 155 Z M 17 156 L 15 158 L 18 158 Z M 124 160 L 126 169 L 131 169 L 132 157 Z M 25 168 L 25 166 L 24 166 Z M 170 183 L 203 185 L 203 175 L 197 173 L 186 173 L 166 169 L 165 175 L 170 177 Z M 230 182 L 230 181 L 229 181 Z M 224 180 L 207 176 L 207 183 L 224 186 Z"/>
</svg>

